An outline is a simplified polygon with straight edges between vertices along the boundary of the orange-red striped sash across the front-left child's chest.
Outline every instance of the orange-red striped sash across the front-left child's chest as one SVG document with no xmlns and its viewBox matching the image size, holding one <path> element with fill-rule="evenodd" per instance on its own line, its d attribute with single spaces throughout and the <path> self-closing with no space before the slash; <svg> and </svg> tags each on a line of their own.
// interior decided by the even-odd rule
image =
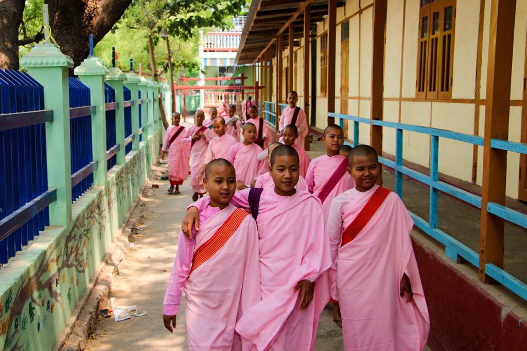
<svg viewBox="0 0 527 351">
<path fill-rule="evenodd" d="M 243 219 L 245 219 L 248 214 L 248 212 L 237 208 L 235 212 L 227 218 L 217 232 L 196 250 L 194 258 L 192 259 L 190 273 L 214 256 L 214 254 L 216 254 L 218 250 L 227 243 L 227 240 L 229 240 L 232 234 L 238 230 L 241 222 L 243 222 Z"/>
</svg>

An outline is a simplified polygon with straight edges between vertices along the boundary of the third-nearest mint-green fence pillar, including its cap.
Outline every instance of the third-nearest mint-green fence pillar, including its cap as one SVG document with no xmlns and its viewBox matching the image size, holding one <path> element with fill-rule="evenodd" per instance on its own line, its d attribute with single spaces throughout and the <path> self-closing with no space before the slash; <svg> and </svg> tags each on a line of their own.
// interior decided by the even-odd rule
<svg viewBox="0 0 527 351">
<path fill-rule="evenodd" d="M 115 89 L 115 102 L 119 105 L 115 109 L 115 140 L 119 145 L 119 151 L 117 152 L 117 163 L 124 165 L 124 156 L 126 152 L 124 150 L 124 89 L 123 82 L 126 76 L 117 67 L 110 69 L 110 72 L 106 74 L 106 83 L 110 84 Z"/>
</svg>

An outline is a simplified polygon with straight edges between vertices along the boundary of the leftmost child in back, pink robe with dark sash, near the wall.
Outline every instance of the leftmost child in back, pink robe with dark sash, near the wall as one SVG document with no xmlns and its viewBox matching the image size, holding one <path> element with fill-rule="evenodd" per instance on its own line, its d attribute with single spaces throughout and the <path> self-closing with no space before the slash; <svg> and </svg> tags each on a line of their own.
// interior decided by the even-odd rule
<svg viewBox="0 0 527 351">
<path fill-rule="evenodd" d="M 180 194 L 179 186 L 189 175 L 189 145 L 182 144 L 181 139 L 185 134 L 186 128 L 179 125 L 181 115 L 178 112 L 172 114 L 172 125 L 167 128 L 163 147 L 162 158 L 168 152 L 168 180 L 170 182 L 169 194 Z M 175 190 L 174 190 L 175 186 Z"/>
</svg>

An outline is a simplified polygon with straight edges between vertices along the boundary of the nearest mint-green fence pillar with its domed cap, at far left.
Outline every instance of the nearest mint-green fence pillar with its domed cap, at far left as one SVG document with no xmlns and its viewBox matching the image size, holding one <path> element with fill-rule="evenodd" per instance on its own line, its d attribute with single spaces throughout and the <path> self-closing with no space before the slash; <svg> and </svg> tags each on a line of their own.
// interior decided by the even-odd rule
<svg viewBox="0 0 527 351">
<path fill-rule="evenodd" d="M 50 224 L 67 227 L 71 223 L 70 56 L 55 44 L 37 44 L 22 57 L 22 67 L 44 86 L 44 106 L 53 110 L 53 122 L 46 123 L 47 184 L 57 189 L 50 206 Z"/>
</svg>

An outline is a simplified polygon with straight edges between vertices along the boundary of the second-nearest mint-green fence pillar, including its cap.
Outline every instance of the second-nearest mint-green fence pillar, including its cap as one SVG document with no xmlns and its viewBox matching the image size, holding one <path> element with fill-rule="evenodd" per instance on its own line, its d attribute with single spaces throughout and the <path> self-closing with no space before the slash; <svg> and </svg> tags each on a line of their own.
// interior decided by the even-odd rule
<svg viewBox="0 0 527 351">
<path fill-rule="evenodd" d="M 93 161 L 97 161 L 97 169 L 93 174 L 93 184 L 106 186 L 106 110 L 104 100 L 104 77 L 108 73 L 98 59 L 86 58 L 75 68 L 74 73 L 90 88 L 91 102 L 96 106 L 92 115 L 92 152 Z M 102 137 L 101 137 L 102 136 Z"/>
</svg>

